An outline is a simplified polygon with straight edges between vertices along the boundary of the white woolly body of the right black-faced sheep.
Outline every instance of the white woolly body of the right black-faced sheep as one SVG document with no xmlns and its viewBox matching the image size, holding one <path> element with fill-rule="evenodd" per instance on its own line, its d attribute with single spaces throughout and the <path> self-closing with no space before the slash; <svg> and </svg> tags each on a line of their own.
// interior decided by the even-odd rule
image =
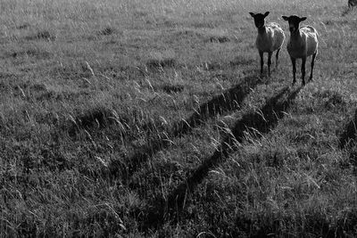
<svg viewBox="0 0 357 238">
<path fill-rule="evenodd" d="M 290 36 L 286 49 L 290 57 L 295 59 L 304 58 L 316 53 L 319 40 L 318 32 L 311 26 L 300 28 L 294 35 Z"/>
</svg>

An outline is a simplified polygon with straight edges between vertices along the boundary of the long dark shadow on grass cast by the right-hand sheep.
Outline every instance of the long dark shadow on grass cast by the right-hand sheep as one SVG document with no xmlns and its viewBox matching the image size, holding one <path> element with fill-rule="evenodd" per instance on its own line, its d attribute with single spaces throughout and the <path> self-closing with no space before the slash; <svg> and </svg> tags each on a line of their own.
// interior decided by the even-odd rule
<svg viewBox="0 0 357 238">
<path fill-rule="evenodd" d="M 224 136 L 220 147 L 212 154 L 211 158 L 204 160 L 203 164 L 196 168 L 187 180 L 170 193 L 165 201 L 155 201 L 156 206 L 148 214 L 147 220 L 142 224 L 143 230 L 161 226 L 166 220 L 176 220 L 185 207 L 187 195 L 195 191 L 208 172 L 219 165 L 229 153 L 235 150 L 235 144 L 242 143 L 245 132 L 249 131 L 257 136 L 268 133 L 282 119 L 295 96 L 302 87 L 290 91 L 288 87 L 283 88 L 278 94 L 271 97 L 260 111 L 255 111 L 239 119 L 235 126 Z"/>
</svg>

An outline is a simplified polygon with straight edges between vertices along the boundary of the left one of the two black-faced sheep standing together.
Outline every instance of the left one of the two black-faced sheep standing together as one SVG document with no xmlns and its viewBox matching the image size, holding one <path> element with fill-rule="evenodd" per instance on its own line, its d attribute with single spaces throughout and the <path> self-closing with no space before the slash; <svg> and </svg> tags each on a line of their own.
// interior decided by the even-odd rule
<svg viewBox="0 0 357 238">
<path fill-rule="evenodd" d="M 268 53 L 268 72 L 270 76 L 271 55 L 274 51 L 277 51 L 276 67 L 278 68 L 278 53 L 280 52 L 280 48 L 284 44 L 285 40 L 284 30 L 280 28 L 278 23 L 270 22 L 265 24 L 265 18 L 269 15 L 269 13 L 270 12 L 265 12 L 264 14 L 249 12 L 254 19 L 255 27 L 258 29 L 255 46 L 258 48 L 258 52 L 261 57 L 261 77 L 264 65 L 263 53 Z"/>
</svg>

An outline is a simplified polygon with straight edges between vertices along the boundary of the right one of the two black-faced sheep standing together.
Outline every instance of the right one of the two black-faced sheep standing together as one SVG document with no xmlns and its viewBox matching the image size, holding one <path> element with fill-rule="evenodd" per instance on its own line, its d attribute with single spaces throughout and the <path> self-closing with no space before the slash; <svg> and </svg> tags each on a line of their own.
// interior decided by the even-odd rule
<svg viewBox="0 0 357 238">
<path fill-rule="evenodd" d="M 306 58 L 312 55 L 311 59 L 311 74 L 310 81 L 312 80 L 312 70 L 315 62 L 316 55 L 318 54 L 318 32 L 311 26 L 299 27 L 301 21 L 305 21 L 306 17 L 298 17 L 291 15 L 289 17 L 282 16 L 285 21 L 289 23 L 290 39 L 287 42 L 286 49 L 290 55 L 293 64 L 293 86 L 295 84 L 296 73 L 296 59 L 302 59 L 302 80 L 303 86 L 305 85 L 305 63 Z"/>
</svg>

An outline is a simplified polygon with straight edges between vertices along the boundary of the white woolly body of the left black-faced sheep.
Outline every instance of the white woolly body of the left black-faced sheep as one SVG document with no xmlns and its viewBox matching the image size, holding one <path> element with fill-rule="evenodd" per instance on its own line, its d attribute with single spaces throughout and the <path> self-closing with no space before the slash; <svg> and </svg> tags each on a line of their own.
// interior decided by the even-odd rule
<svg viewBox="0 0 357 238">
<path fill-rule="evenodd" d="M 285 39 L 284 30 L 278 23 L 267 23 L 264 29 L 258 30 L 255 45 L 260 52 L 273 52 L 283 45 Z"/>
</svg>

